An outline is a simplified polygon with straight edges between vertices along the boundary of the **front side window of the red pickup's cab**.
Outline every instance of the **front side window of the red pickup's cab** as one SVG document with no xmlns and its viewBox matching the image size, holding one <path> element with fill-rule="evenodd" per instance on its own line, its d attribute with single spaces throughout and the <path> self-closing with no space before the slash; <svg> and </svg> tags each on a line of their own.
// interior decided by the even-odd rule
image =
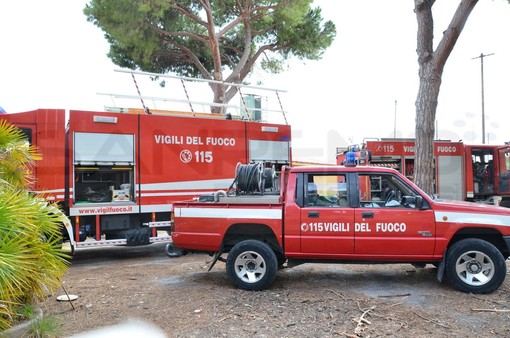
<svg viewBox="0 0 510 338">
<path fill-rule="evenodd" d="M 394 175 L 359 175 L 360 206 L 364 208 L 409 208 L 416 193 Z"/>
</svg>

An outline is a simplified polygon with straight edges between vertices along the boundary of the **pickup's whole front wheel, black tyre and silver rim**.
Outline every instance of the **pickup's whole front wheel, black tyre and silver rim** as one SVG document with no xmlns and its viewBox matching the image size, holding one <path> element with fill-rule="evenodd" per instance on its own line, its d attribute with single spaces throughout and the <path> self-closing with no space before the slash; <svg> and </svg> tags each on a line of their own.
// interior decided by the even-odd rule
<svg viewBox="0 0 510 338">
<path fill-rule="evenodd" d="M 467 238 L 453 244 L 446 256 L 446 277 L 457 290 L 491 293 L 506 276 L 505 259 L 491 243 Z"/>
</svg>

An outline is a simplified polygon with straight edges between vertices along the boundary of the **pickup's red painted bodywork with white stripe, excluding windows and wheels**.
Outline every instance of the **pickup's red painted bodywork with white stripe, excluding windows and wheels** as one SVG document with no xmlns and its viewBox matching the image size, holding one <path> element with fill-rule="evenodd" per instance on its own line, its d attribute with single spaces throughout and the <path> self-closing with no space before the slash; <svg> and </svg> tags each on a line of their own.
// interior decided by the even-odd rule
<svg viewBox="0 0 510 338">
<path fill-rule="evenodd" d="M 398 176 L 413 186 L 429 207 L 318 208 L 296 204 L 297 174 L 335 172 Z M 234 224 L 264 224 L 272 229 L 288 258 L 430 262 L 442 259 L 448 243 L 461 229 L 489 229 L 510 236 L 507 208 L 433 200 L 393 169 L 298 167 L 287 175 L 284 204 L 175 203 L 174 244 L 216 252 Z"/>
</svg>

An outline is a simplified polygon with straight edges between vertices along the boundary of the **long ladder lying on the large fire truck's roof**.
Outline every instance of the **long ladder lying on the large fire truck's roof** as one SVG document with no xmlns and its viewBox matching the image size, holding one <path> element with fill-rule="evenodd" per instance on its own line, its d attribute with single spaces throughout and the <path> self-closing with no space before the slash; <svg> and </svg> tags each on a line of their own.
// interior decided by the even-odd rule
<svg viewBox="0 0 510 338">
<path fill-rule="evenodd" d="M 216 81 L 216 80 L 209 80 L 209 79 L 200 79 L 200 78 L 191 78 L 191 77 L 184 77 L 184 76 L 176 76 L 176 75 L 169 75 L 169 74 L 159 74 L 159 73 L 150 73 L 150 72 L 141 72 L 141 71 L 132 71 L 132 70 L 123 70 L 123 69 L 116 69 L 116 72 L 120 73 L 129 73 L 131 74 L 131 77 L 133 79 L 133 82 L 135 83 L 135 87 L 137 90 L 138 95 L 126 95 L 126 94 L 116 94 L 116 93 L 97 93 L 98 95 L 105 95 L 110 96 L 112 99 L 138 99 L 141 101 L 141 104 L 143 106 L 143 110 L 146 113 L 150 113 L 151 110 L 149 110 L 146 105 L 145 101 L 161 101 L 161 102 L 174 102 L 179 104 L 187 104 L 190 107 L 191 113 L 193 116 L 196 116 L 195 109 L 193 105 L 202 105 L 202 106 L 209 106 L 209 107 L 221 107 L 225 109 L 234 109 L 238 112 L 238 115 L 240 119 L 242 120 L 254 120 L 250 116 L 251 112 L 259 112 L 259 114 L 262 114 L 262 112 L 270 113 L 270 112 L 281 112 L 283 119 L 285 121 L 285 124 L 288 124 L 287 117 L 286 117 L 286 111 L 283 109 L 282 101 L 280 98 L 280 93 L 286 93 L 286 90 L 277 89 L 277 88 L 267 88 L 262 86 L 254 86 L 254 85 L 247 85 L 242 83 L 231 83 L 231 82 L 224 82 L 224 81 Z M 152 78 L 169 78 L 169 79 L 177 79 L 180 80 L 185 98 L 168 98 L 168 97 L 160 97 L 160 96 L 143 96 L 141 94 L 141 91 L 139 89 L 138 83 L 136 81 L 135 75 L 144 75 L 149 76 Z M 209 84 L 221 84 L 228 87 L 235 87 L 237 90 L 237 93 L 239 95 L 241 104 L 240 105 L 233 105 L 228 103 L 214 103 L 214 102 L 207 102 L 207 101 L 201 101 L 201 100 L 191 100 L 189 97 L 189 91 L 186 86 L 186 82 L 205 82 Z M 241 91 L 242 88 L 250 89 L 253 91 L 263 91 L 263 92 L 274 92 L 275 96 L 277 98 L 277 102 L 279 105 L 279 109 L 270 109 L 270 108 L 262 108 L 262 105 L 260 107 L 249 107 L 245 97 L 248 96 L 254 96 L 253 94 L 247 94 L 244 95 Z M 267 97 L 266 97 L 267 98 Z M 117 107 L 108 107 L 107 110 L 110 111 L 117 111 L 117 112 L 126 112 L 128 109 L 125 108 L 117 108 Z M 156 110 L 158 111 L 158 110 Z M 253 114 L 256 115 L 256 114 Z"/>
</svg>

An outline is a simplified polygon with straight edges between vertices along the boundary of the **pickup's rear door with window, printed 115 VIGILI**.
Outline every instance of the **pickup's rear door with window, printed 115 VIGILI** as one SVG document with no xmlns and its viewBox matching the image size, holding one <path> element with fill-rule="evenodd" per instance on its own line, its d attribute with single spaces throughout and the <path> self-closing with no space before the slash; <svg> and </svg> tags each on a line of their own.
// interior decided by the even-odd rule
<svg viewBox="0 0 510 338">
<path fill-rule="evenodd" d="M 345 174 L 305 174 L 301 253 L 331 257 L 354 253 L 354 209 Z"/>
</svg>

